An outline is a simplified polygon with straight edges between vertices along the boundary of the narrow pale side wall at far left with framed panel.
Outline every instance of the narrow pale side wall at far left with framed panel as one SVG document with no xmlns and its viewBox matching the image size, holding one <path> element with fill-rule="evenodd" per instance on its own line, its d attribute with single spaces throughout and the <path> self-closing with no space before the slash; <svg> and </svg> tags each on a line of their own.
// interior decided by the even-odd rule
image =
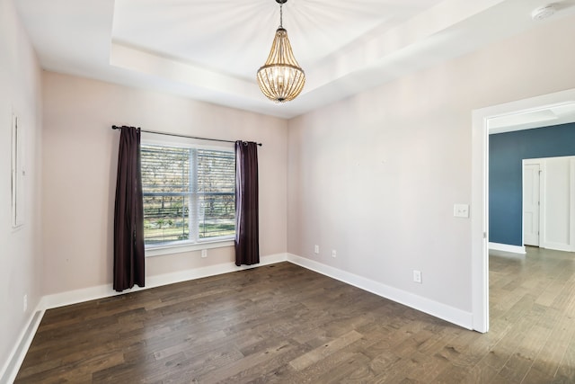
<svg viewBox="0 0 575 384">
<path fill-rule="evenodd" d="M 39 303 L 40 249 L 40 67 L 12 0 L 0 0 L 0 381 L 13 347 Z M 21 228 L 12 228 L 12 114 L 23 129 Z M 28 309 L 23 311 L 23 296 Z"/>
</svg>

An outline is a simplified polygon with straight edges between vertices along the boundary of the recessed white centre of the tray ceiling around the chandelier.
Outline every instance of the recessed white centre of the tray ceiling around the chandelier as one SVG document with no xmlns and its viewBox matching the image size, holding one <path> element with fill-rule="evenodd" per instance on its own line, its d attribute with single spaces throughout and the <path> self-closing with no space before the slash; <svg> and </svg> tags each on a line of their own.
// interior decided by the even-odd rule
<svg viewBox="0 0 575 384">
<path fill-rule="evenodd" d="M 377 28 L 392 28 L 438 0 L 289 0 L 283 6 L 296 59 L 309 67 Z M 265 62 L 274 0 L 117 0 L 112 39 L 226 75 L 252 78 Z"/>
</svg>

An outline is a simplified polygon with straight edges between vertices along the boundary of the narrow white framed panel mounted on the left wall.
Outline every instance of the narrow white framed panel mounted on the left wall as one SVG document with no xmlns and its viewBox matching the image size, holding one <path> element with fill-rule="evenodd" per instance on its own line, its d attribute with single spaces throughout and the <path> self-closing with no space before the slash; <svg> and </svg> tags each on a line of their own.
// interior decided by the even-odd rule
<svg viewBox="0 0 575 384">
<path fill-rule="evenodd" d="M 18 116 L 12 115 L 12 227 L 24 224 L 24 177 L 23 133 Z"/>
</svg>

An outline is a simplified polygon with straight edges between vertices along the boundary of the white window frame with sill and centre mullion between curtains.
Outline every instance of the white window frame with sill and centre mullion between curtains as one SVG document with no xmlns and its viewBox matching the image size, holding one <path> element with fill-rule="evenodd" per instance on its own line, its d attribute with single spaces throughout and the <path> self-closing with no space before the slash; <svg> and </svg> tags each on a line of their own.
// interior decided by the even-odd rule
<svg viewBox="0 0 575 384">
<path fill-rule="evenodd" d="M 160 134 L 154 134 L 149 132 L 142 132 L 140 139 L 140 146 L 166 146 L 166 147 L 181 147 L 181 148 L 196 148 L 204 150 L 216 150 L 216 151 L 226 151 L 234 154 L 234 143 L 221 142 L 217 145 L 206 145 L 205 142 L 193 138 L 181 138 L 164 136 Z M 190 167 L 190 172 L 193 172 L 193 177 L 190 180 L 191 187 L 195 190 L 197 183 L 197 166 L 193 165 Z M 196 203 L 199 199 L 201 193 L 190 192 L 190 207 L 192 204 Z M 195 200 L 192 201 L 192 200 Z M 188 220 L 190 233 L 191 229 L 199 229 L 199 215 L 196 209 L 189 210 Z M 235 230 L 235 228 L 234 228 Z M 199 251 L 203 249 L 213 249 L 226 246 L 234 246 L 234 235 L 226 237 L 212 237 L 207 239 L 195 238 L 192 240 L 181 240 L 175 242 L 169 242 L 159 245 L 145 245 L 146 257 L 153 257 L 158 255 L 172 255 L 181 254 L 185 252 Z"/>
</svg>

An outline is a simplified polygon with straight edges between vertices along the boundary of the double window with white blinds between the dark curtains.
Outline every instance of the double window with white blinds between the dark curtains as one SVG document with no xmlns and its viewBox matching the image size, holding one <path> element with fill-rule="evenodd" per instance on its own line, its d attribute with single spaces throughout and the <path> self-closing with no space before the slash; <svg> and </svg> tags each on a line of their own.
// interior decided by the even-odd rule
<svg viewBox="0 0 575 384">
<path fill-rule="evenodd" d="M 232 150 L 142 144 L 141 161 L 146 248 L 234 237 Z"/>
</svg>

